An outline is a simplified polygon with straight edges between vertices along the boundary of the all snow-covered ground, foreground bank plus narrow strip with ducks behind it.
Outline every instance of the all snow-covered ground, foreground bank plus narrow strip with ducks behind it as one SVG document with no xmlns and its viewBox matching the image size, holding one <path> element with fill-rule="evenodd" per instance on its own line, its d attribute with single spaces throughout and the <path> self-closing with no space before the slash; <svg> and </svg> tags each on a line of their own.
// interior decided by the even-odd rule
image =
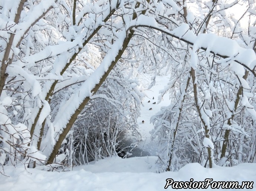
<svg viewBox="0 0 256 191">
<path fill-rule="evenodd" d="M 149 78 L 146 79 L 148 81 L 145 82 L 145 87 L 148 85 L 147 82 L 150 82 Z M 147 151 L 149 157 L 126 159 L 109 157 L 91 162 L 86 166 L 74 167 L 73 171 L 65 172 L 25 168 L 24 165 L 19 165 L 16 168 L 9 166 L 5 167 L 5 175 L 0 174 L 0 191 L 158 191 L 165 190 L 166 179 L 188 181 L 191 185 L 196 184 L 195 181 L 205 181 L 206 178 L 213 178 L 211 183 L 213 181 L 238 181 L 239 185 L 242 185 L 242 181 L 256 181 L 256 164 L 248 163 L 239 164 L 235 167 L 215 167 L 212 169 L 193 163 L 187 164 L 178 172 L 157 173 L 155 165 L 157 157 L 154 156 L 157 146 L 150 140 L 149 132 L 153 128 L 150 117 L 157 113 L 161 106 L 170 104 L 168 95 L 165 95 L 163 100 L 158 103 L 159 91 L 164 88 L 167 82 L 167 77 L 158 76 L 155 86 L 144 90 L 146 97 L 143 101 L 144 106 L 141 108 L 141 117 L 138 119 L 143 136 L 139 148 Z M 168 183 L 171 184 L 170 181 Z M 167 190 L 173 190 L 172 185 L 169 185 Z M 253 187 L 251 190 L 256 190 L 256 185 Z M 207 190 L 213 189 L 209 186 Z M 219 190 L 226 189 L 220 187 Z"/>
</svg>

